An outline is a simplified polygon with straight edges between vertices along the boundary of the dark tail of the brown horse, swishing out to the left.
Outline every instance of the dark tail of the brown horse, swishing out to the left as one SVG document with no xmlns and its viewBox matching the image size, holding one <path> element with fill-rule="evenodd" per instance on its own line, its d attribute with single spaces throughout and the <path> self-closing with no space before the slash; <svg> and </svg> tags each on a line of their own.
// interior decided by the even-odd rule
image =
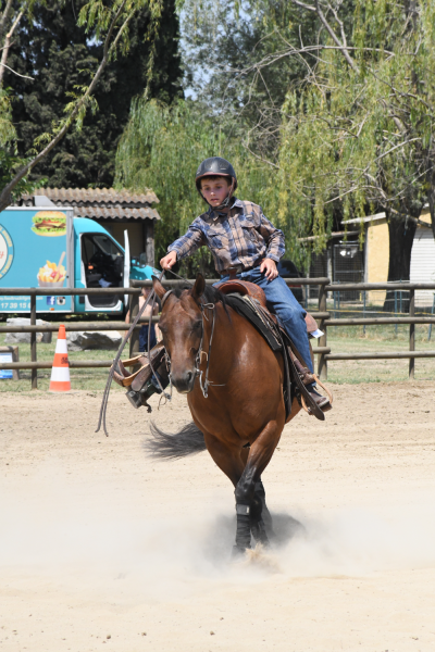
<svg viewBox="0 0 435 652">
<path fill-rule="evenodd" d="M 152 457 L 177 460 L 187 455 L 196 455 L 207 449 L 204 437 L 199 428 L 190 422 L 175 435 L 163 432 L 151 422 L 151 437 L 145 442 L 145 450 Z"/>
</svg>

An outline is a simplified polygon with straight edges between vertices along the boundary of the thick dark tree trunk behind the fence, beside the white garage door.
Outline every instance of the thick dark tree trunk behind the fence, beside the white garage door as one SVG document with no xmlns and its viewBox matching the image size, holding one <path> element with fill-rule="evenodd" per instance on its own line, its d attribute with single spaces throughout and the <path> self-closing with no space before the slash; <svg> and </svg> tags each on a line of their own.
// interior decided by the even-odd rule
<svg viewBox="0 0 435 652">
<path fill-rule="evenodd" d="M 421 209 L 413 211 L 411 217 L 420 217 Z M 418 213 L 418 214 L 417 214 Z M 389 235 L 389 263 L 388 281 L 409 280 L 411 272 L 411 250 L 415 235 L 417 223 L 405 216 L 387 214 L 388 235 Z M 399 300 L 395 301 L 397 294 L 394 290 L 388 290 L 385 298 L 384 311 L 394 313 L 396 310 L 401 312 L 409 311 L 409 292 L 401 292 Z"/>
</svg>

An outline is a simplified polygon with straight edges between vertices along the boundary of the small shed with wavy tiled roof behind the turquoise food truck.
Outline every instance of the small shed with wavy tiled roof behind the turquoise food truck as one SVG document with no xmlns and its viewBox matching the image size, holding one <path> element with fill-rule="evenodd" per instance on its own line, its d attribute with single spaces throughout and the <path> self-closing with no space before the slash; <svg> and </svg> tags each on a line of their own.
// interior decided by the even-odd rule
<svg viewBox="0 0 435 652">
<path fill-rule="evenodd" d="M 147 264 L 154 265 L 154 223 L 160 220 L 152 204 L 159 200 L 152 190 L 135 193 L 114 188 L 39 188 L 24 195 L 21 205 L 50 203 L 71 206 L 77 217 L 96 220 L 124 246 L 124 230 L 128 233 L 130 255 L 146 253 Z"/>
</svg>

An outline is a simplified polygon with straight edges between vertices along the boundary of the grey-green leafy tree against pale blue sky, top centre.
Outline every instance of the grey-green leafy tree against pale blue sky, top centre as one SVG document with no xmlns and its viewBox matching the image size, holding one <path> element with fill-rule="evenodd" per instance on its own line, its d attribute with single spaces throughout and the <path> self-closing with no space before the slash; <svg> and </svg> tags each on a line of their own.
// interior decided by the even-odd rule
<svg viewBox="0 0 435 652">
<path fill-rule="evenodd" d="M 299 29 L 313 37 L 311 14 L 302 22 L 295 15 L 286 0 L 184 2 L 185 86 L 227 138 L 259 159 L 275 161 L 282 104 L 288 86 L 304 77 L 303 62 L 279 58 L 288 42 L 299 43 Z M 271 58 L 273 66 L 262 65 Z"/>
</svg>

